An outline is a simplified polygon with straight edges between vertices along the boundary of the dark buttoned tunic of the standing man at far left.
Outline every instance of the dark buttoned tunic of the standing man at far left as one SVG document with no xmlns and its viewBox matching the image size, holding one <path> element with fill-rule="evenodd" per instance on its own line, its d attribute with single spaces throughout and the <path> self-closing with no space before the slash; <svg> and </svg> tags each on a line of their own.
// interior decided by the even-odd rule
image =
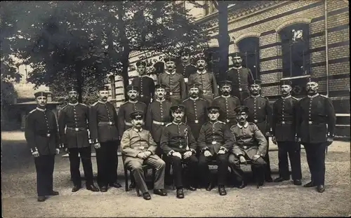
<svg viewBox="0 0 351 218">
<path fill-rule="evenodd" d="M 29 112 L 25 123 L 25 139 L 32 151 L 40 156 L 54 155 L 59 146 L 58 123 L 53 111 L 36 108 Z"/>
</svg>

